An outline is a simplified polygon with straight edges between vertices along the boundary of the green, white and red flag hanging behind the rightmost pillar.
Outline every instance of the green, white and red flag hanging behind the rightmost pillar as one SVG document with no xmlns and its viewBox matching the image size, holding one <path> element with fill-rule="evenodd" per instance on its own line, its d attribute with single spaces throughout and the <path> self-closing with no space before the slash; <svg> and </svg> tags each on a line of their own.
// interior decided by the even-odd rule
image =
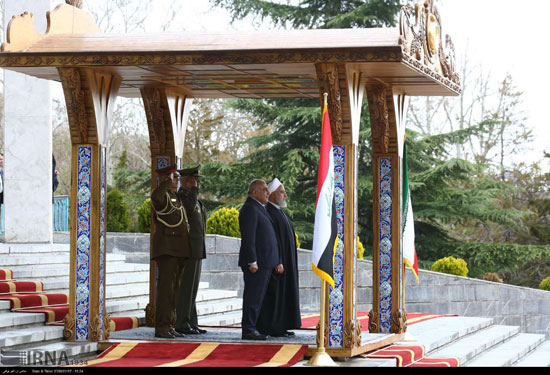
<svg viewBox="0 0 550 375">
<path fill-rule="evenodd" d="M 414 217 L 411 204 L 411 189 L 409 187 L 409 171 L 407 161 L 407 140 L 403 145 L 403 263 L 409 267 L 418 282 L 418 260 L 414 245 Z"/>
</svg>

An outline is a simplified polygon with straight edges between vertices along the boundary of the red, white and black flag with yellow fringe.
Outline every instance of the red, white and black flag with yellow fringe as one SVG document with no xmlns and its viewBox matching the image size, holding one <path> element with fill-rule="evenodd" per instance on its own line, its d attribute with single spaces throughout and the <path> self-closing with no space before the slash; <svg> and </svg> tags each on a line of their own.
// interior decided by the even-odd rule
<svg viewBox="0 0 550 375">
<path fill-rule="evenodd" d="M 327 105 L 323 109 L 321 155 L 317 177 L 315 226 L 313 228 L 312 269 L 334 288 L 334 254 L 338 244 L 334 200 L 334 154 Z"/>
</svg>

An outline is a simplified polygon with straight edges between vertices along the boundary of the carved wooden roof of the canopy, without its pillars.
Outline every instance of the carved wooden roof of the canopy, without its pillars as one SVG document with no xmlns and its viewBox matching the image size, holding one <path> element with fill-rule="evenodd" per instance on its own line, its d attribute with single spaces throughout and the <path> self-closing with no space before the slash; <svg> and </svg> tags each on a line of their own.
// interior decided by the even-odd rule
<svg viewBox="0 0 550 375">
<path fill-rule="evenodd" d="M 457 95 L 452 43 L 425 13 L 405 7 L 398 28 L 116 35 L 61 4 L 44 35 L 32 14 L 12 18 L 0 67 L 53 81 L 59 67 L 93 67 L 120 76 L 127 97 L 162 87 L 196 98 L 318 98 L 315 64 L 338 63 L 407 95 Z"/>
</svg>

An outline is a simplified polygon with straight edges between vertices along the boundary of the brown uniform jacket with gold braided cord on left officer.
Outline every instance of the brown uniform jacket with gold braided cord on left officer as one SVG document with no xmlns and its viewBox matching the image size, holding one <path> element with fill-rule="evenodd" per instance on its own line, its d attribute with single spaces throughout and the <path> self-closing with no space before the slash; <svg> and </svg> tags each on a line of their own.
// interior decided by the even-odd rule
<svg viewBox="0 0 550 375">
<path fill-rule="evenodd" d="M 151 259 L 161 255 L 180 258 L 191 256 L 189 223 L 184 215 L 181 200 L 176 193 L 170 191 L 171 184 L 172 181 L 166 180 L 151 193 L 151 206 L 154 210 L 153 220 L 155 222 Z M 176 208 L 172 213 L 162 215 L 162 213 L 169 212 L 172 207 Z M 178 223 L 180 224 L 176 225 Z"/>
</svg>

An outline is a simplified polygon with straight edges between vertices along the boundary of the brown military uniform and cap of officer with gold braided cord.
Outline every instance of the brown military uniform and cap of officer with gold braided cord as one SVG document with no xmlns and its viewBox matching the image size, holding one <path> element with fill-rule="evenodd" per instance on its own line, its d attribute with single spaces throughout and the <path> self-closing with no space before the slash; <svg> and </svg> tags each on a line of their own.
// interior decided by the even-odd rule
<svg viewBox="0 0 550 375">
<path fill-rule="evenodd" d="M 175 167 L 163 168 L 157 174 L 167 176 L 172 172 L 176 172 Z M 151 259 L 157 263 L 155 336 L 162 338 L 182 336 L 174 331 L 172 322 L 184 260 L 191 256 L 189 223 L 171 186 L 171 179 L 167 179 L 151 193 L 155 222 Z"/>
</svg>

